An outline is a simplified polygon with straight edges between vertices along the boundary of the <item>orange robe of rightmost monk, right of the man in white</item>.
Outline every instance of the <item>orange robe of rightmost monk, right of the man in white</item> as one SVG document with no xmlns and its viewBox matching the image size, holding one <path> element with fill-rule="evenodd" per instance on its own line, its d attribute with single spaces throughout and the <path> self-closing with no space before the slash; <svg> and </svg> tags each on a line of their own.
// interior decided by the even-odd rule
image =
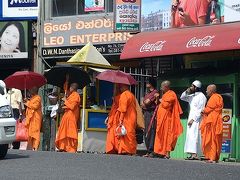
<svg viewBox="0 0 240 180">
<path fill-rule="evenodd" d="M 220 94 L 213 94 L 203 111 L 203 120 L 200 125 L 202 136 L 202 151 L 205 158 L 218 161 L 222 149 L 222 122 L 223 98 Z"/>
</svg>

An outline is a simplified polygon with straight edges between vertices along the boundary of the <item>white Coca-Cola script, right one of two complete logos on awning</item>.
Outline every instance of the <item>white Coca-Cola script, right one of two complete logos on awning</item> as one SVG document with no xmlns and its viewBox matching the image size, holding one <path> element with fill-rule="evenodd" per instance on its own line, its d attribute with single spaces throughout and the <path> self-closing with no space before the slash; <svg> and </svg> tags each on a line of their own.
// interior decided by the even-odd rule
<svg viewBox="0 0 240 180">
<path fill-rule="evenodd" d="M 208 47 L 211 46 L 215 36 L 205 36 L 204 38 L 193 37 L 188 41 L 187 48 Z"/>
</svg>

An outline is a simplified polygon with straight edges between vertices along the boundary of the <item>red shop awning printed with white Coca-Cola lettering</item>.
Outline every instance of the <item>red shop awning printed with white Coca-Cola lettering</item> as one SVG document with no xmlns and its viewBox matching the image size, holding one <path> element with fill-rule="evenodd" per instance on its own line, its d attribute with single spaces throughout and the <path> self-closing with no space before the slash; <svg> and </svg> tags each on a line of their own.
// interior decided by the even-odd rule
<svg viewBox="0 0 240 180">
<path fill-rule="evenodd" d="M 130 38 L 121 59 L 240 49 L 240 22 L 142 32 Z"/>
</svg>

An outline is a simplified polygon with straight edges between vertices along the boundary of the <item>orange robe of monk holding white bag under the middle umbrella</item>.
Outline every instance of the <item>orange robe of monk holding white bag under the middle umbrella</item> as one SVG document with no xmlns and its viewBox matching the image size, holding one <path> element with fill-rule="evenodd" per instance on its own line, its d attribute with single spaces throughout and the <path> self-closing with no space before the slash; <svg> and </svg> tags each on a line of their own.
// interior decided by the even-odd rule
<svg viewBox="0 0 240 180">
<path fill-rule="evenodd" d="M 119 137 L 118 154 L 136 154 L 136 99 L 129 90 L 121 93 L 115 118 L 116 121 L 122 120 L 122 123 L 127 130 L 125 136 Z"/>
</svg>

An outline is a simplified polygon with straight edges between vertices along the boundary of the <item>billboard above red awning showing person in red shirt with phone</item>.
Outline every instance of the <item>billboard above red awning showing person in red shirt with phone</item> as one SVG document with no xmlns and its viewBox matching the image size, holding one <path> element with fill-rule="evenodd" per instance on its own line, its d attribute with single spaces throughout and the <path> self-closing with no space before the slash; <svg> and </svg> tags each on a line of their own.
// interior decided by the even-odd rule
<svg viewBox="0 0 240 180">
<path fill-rule="evenodd" d="M 240 0 L 142 0 L 142 31 L 240 21 Z"/>
</svg>

